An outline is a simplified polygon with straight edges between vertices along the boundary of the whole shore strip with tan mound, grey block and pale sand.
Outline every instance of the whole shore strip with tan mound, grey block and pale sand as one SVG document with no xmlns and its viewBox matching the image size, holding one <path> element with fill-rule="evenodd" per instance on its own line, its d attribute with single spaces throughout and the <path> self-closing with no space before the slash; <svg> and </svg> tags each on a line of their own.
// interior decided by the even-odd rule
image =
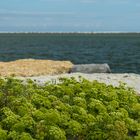
<svg viewBox="0 0 140 140">
<path fill-rule="evenodd" d="M 69 73 L 71 70 L 72 73 Z M 98 73 L 96 73 L 98 72 Z M 58 82 L 60 77 L 79 76 L 89 80 L 118 86 L 120 82 L 126 83 L 140 94 L 140 75 L 133 73 L 113 74 L 108 64 L 74 65 L 70 61 L 21 59 L 11 62 L 0 62 L 0 76 L 15 76 L 22 80 L 31 79 L 38 84 L 47 81 Z M 86 74 L 88 73 L 88 74 Z"/>
</svg>

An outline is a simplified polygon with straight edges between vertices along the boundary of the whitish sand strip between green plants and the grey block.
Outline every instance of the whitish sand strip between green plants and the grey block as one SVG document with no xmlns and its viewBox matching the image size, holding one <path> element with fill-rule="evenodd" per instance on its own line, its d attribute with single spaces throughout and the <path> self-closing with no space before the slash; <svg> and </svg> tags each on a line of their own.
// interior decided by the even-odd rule
<svg viewBox="0 0 140 140">
<path fill-rule="evenodd" d="M 113 86 L 118 86 L 119 82 L 126 83 L 127 86 L 132 87 L 140 94 L 140 75 L 138 74 L 107 74 L 107 73 L 94 73 L 94 74 L 83 74 L 83 73 L 71 73 L 71 74 L 60 74 L 55 76 L 37 76 L 37 77 L 18 77 L 20 79 L 26 80 L 31 79 L 35 80 L 38 84 L 44 84 L 47 81 L 56 81 L 58 82 L 59 77 L 75 77 L 78 79 L 79 76 L 82 76 L 85 79 L 90 81 L 97 80 L 102 83 L 111 84 Z"/>
</svg>

